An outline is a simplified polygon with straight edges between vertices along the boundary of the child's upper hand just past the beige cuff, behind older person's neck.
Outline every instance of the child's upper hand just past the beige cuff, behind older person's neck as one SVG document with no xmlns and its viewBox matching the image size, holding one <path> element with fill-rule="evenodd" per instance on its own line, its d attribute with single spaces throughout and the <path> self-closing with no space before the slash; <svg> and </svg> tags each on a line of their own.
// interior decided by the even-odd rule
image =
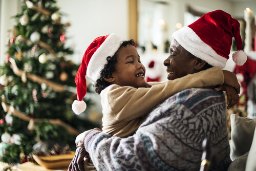
<svg viewBox="0 0 256 171">
<path fill-rule="evenodd" d="M 223 75 L 224 75 L 224 84 L 233 87 L 236 89 L 237 93 L 240 93 L 240 84 L 238 82 L 238 78 L 236 74 L 227 71 L 227 70 L 222 70 Z"/>
</svg>

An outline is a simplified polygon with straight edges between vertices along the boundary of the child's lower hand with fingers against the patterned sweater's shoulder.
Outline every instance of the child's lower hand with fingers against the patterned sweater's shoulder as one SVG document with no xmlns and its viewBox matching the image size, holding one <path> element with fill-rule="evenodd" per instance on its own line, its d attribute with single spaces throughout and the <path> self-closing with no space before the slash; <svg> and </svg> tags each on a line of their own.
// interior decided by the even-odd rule
<svg viewBox="0 0 256 171">
<path fill-rule="evenodd" d="M 232 106 L 236 105 L 239 101 L 239 95 L 235 88 L 228 86 L 226 84 L 216 86 L 215 91 L 226 91 L 227 94 L 227 109 L 230 109 Z"/>
</svg>

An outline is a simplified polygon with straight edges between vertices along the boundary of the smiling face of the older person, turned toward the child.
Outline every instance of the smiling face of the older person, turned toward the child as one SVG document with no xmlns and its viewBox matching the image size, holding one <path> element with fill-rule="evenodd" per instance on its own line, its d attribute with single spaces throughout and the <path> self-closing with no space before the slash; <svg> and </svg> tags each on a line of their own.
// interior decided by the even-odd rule
<svg viewBox="0 0 256 171">
<path fill-rule="evenodd" d="M 196 72 L 197 59 L 188 57 L 188 54 L 189 52 L 173 39 L 170 44 L 170 56 L 164 60 L 168 80 L 174 80 Z"/>
</svg>

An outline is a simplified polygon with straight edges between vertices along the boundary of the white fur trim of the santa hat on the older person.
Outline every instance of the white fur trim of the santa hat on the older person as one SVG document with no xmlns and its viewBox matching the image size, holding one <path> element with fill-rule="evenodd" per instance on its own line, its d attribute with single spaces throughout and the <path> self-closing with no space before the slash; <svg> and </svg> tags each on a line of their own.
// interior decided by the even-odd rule
<svg viewBox="0 0 256 171">
<path fill-rule="evenodd" d="M 189 27 L 184 26 L 173 33 L 179 44 L 191 54 L 206 61 L 211 66 L 219 66 L 224 68 L 227 59 L 216 53 L 209 45 L 205 44 L 203 40 Z"/>
</svg>

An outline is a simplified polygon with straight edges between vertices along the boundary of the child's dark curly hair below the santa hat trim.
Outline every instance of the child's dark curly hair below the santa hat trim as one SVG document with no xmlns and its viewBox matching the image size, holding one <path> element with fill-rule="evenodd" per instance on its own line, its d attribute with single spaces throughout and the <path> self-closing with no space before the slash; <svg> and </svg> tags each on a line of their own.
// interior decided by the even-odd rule
<svg viewBox="0 0 256 171">
<path fill-rule="evenodd" d="M 93 85 L 95 87 L 95 92 L 97 94 L 100 94 L 102 90 L 104 90 L 106 87 L 110 86 L 110 82 L 104 80 L 104 78 L 111 78 L 112 73 L 115 71 L 115 64 L 117 62 L 117 56 L 118 56 L 118 51 L 120 50 L 121 47 L 127 46 L 127 45 L 135 45 L 135 42 L 133 39 L 123 41 L 117 52 L 111 57 L 108 56 L 106 57 L 106 60 L 108 63 L 104 65 L 104 68 L 100 71 L 100 78 L 97 79 L 96 83 Z"/>
</svg>

